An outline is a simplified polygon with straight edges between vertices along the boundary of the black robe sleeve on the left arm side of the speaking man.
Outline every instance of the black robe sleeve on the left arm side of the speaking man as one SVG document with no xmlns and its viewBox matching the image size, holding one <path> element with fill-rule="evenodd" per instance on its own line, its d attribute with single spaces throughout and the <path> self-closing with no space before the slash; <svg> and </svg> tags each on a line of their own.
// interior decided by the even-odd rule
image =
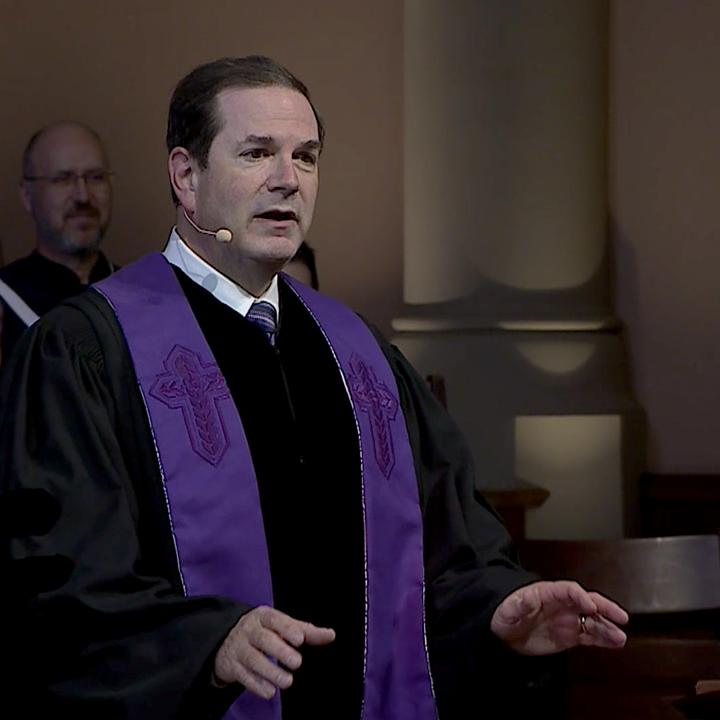
<svg viewBox="0 0 720 720">
<path fill-rule="evenodd" d="M 24 716 L 220 718 L 239 689 L 211 686 L 212 660 L 248 608 L 184 596 L 124 341 L 88 295 L 38 322 L 3 370 L 0 488 L 60 505 L 45 534 L 3 540 L 6 557 L 71 567 L 30 603 L 4 594 Z"/>
</svg>

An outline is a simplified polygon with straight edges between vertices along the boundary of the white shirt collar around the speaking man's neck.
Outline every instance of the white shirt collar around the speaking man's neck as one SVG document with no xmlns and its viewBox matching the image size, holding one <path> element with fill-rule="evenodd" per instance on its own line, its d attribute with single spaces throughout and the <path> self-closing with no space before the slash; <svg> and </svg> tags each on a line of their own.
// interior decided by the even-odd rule
<svg viewBox="0 0 720 720">
<path fill-rule="evenodd" d="M 273 277 L 270 287 L 260 297 L 255 297 L 203 260 L 180 237 L 177 228 L 172 229 L 163 255 L 169 263 L 204 287 L 215 299 L 239 312 L 243 317 L 247 315 L 250 306 L 256 300 L 265 300 L 275 308 L 278 319 L 280 318 L 277 275 Z"/>
</svg>

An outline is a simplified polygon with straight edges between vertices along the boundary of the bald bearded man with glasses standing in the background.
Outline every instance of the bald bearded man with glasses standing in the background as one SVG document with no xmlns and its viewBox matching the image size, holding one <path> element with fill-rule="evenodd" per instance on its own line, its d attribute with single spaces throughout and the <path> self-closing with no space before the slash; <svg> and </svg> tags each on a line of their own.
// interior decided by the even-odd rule
<svg viewBox="0 0 720 720">
<path fill-rule="evenodd" d="M 77 122 L 38 130 L 23 152 L 22 173 L 35 249 L 0 268 L 5 359 L 37 316 L 112 272 L 100 251 L 112 211 L 111 172 L 97 133 Z"/>
</svg>

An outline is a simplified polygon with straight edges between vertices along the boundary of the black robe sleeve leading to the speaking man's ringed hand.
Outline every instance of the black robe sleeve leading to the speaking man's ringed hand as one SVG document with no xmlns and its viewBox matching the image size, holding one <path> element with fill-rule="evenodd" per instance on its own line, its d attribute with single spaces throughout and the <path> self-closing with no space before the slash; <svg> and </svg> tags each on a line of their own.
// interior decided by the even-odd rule
<svg viewBox="0 0 720 720">
<path fill-rule="evenodd" d="M 518 563 L 499 516 L 476 492 L 462 433 L 400 350 L 393 369 L 423 513 L 428 648 L 441 718 L 514 717 L 559 702 L 564 657 L 518 655 L 490 631 L 497 606 L 538 577 Z M 499 714 L 498 714 L 499 713 Z"/>
</svg>

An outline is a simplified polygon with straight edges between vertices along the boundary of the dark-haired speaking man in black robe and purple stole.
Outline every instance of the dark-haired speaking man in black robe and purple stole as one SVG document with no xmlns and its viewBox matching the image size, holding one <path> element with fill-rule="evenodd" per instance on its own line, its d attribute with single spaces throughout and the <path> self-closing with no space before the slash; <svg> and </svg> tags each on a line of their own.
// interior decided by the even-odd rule
<svg viewBox="0 0 720 720">
<path fill-rule="evenodd" d="M 627 616 L 617 605 L 576 583 L 535 581 L 517 565 L 501 523 L 473 497 L 462 438 L 400 353 L 365 328 L 363 342 L 370 338 L 378 372 L 386 366 L 389 379 L 373 370 L 358 390 L 338 354 L 359 341 L 320 311 L 346 318 L 348 336 L 362 334 L 363 323 L 278 278 L 312 219 L 322 142 L 306 88 L 273 61 L 225 59 L 190 73 L 176 88 L 168 125 L 177 226 L 165 260 L 144 266 L 158 269 L 162 288 L 143 289 L 149 300 L 142 310 L 132 306 L 142 278 L 131 266 L 51 312 L 14 359 L 3 390 L 2 486 L 46 489 L 61 515 L 44 537 L 13 542 L 11 556 L 61 555 L 74 564 L 68 581 L 30 609 L 34 637 L 43 642 L 27 673 L 46 689 L 50 711 L 148 720 L 280 712 L 284 720 L 415 720 L 416 698 L 398 677 L 416 663 L 422 717 L 433 717 L 436 703 L 441 718 L 462 717 L 468 698 L 477 714 L 492 717 L 486 698 L 513 658 L 624 643 L 616 623 Z M 166 287 L 189 306 L 212 362 L 185 348 L 180 332 L 165 372 L 151 374 L 146 386 L 133 323 L 150 318 L 163 341 L 173 317 L 156 302 Z M 250 320 L 258 300 L 272 306 L 277 324 Z M 123 314 L 126 301 L 134 310 Z M 141 340 L 151 352 L 147 327 Z M 205 572 L 187 553 L 193 534 L 204 533 L 210 545 L 193 557 L 206 551 L 210 563 L 216 542 L 226 552 L 220 536 L 237 530 L 234 522 L 244 532 L 249 517 L 231 514 L 217 538 L 215 526 L 206 532 L 218 505 L 234 502 L 233 489 L 208 500 L 223 472 L 228 415 L 216 422 L 215 409 L 224 398 L 250 449 L 250 465 L 235 480 L 238 493 L 249 487 L 248 472 L 257 480 L 250 485 L 272 606 L 191 587 L 191 572 Z M 378 596 L 368 588 L 378 583 L 371 566 L 392 568 L 396 558 L 383 558 L 394 550 L 372 540 L 368 514 L 383 507 L 373 510 L 366 476 L 374 461 L 389 459 L 377 488 L 394 492 L 403 448 L 383 445 L 387 436 L 376 434 L 392 411 L 405 434 L 414 473 L 406 489 L 414 499 L 398 500 L 380 526 L 389 537 L 403 535 L 403 552 L 420 553 L 422 583 L 399 588 L 386 634 L 404 638 L 407 631 L 421 643 L 420 657 L 403 656 L 404 642 L 372 634 Z M 195 469 L 166 453 L 163 418 L 184 422 L 173 427 L 183 436 L 187 429 L 202 456 L 193 468 L 208 472 L 207 483 L 184 497 L 181 486 Z M 233 469 L 224 472 L 233 481 Z M 421 526 L 413 525 L 416 511 Z M 255 547 L 256 534 L 248 529 L 246 537 Z M 244 541 L 229 552 L 242 553 L 238 544 Z M 398 575 L 403 562 L 398 556 Z M 228 574 L 247 572 L 236 563 Z M 408 620 L 406 595 L 420 599 L 419 624 Z M 377 655 L 386 640 L 389 654 Z M 282 706 L 271 705 L 278 694 Z"/>
</svg>

